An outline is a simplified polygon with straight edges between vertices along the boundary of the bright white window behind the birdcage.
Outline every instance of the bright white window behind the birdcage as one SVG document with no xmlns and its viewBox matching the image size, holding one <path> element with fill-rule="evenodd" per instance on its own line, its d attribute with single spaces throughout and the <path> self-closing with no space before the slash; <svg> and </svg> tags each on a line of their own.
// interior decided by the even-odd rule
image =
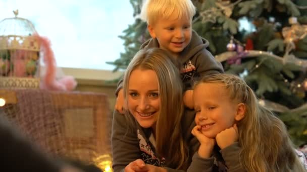
<svg viewBox="0 0 307 172">
<path fill-rule="evenodd" d="M 112 70 L 106 61 L 124 52 L 118 36 L 134 22 L 128 0 L 1 0 L 0 21 L 16 9 L 50 39 L 59 67 Z"/>
</svg>

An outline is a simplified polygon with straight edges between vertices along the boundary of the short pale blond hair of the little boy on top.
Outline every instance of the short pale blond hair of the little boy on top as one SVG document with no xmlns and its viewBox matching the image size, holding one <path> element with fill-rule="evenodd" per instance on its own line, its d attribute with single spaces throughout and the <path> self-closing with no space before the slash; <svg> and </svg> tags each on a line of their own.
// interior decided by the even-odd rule
<svg viewBox="0 0 307 172">
<path fill-rule="evenodd" d="M 191 0 L 144 0 L 140 18 L 148 25 L 155 25 L 159 18 L 168 19 L 174 14 L 177 19 L 184 15 L 193 18 L 195 13 Z"/>
</svg>

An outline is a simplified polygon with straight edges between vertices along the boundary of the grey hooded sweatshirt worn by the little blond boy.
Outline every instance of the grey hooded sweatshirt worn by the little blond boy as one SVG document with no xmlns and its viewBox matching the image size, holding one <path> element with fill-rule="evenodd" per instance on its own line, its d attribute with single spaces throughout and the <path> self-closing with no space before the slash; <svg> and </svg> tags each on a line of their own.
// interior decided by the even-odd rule
<svg viewBox="0 0 307 172">
<path fill-rule="evenodd" d="M 192 31 L 191 42 L 177 57 L 181 65 L 180 72 L 184 90 L 191 90 L 193 83 L 204 75 L 224 72 L 222 64 L 207 50 L 208 46 L 209 42 L 206 39 Z M 158 40 L 151 38 L 140 47 L 140 49 L 147 48 L 159 48 Z M 123 79 L 118 82 L 116 96 L 122 89 L 122 81 Z"/>
</svg>

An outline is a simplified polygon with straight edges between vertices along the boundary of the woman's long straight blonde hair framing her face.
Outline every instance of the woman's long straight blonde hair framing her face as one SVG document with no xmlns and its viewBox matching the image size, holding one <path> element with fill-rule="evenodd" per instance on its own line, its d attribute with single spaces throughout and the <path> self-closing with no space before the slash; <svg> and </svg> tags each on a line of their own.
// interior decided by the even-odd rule
<svg viewBox="0 0 307 172">
<path fill-rule="evenodd" d="M 159 48 L 138 51 L 124 75 L 123 90 L 126 105 L 129 103 L 127 99 L 129 77 L 135 69 L 154 70 L 157 74 L 160 97 L 155 131 L 158 156 L 166 158 L 166 165 L 169 167 L 185 168 L 187 150 L 180 124 L 183 114 L 182 82 L 177 63 L 165 50 Z"/>
</svg>

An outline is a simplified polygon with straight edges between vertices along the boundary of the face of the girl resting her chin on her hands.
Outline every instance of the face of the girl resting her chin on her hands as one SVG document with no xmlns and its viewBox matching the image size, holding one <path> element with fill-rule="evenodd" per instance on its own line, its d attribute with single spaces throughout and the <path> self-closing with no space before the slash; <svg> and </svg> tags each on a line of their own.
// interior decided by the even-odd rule
<svg viewBox="0 0 307 172">
<path fill-rule="evenodd" d="M 200 83 L 193 92 L 195 122 L 201 126 L 203 135 L 215 138 L 221 131 L 233 126 L 242 104 L 237 104 L 228 96 L 222 83 Z"/>
</svg>

